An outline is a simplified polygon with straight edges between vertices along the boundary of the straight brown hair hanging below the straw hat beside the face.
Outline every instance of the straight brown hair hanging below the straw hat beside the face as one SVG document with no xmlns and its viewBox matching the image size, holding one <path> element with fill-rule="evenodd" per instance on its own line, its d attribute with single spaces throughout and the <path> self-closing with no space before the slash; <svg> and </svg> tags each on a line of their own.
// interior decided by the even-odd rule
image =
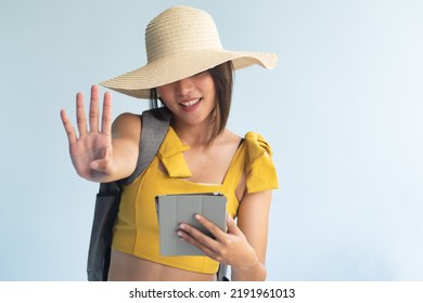
<svg viewBox="0 0 423 303">
<path fill-rule="evenodd" d="M 232 62 L 219 64 L 207 70 L 210 73 L 216 89 L 217 103 L 214 111 L 214 122 L 210 130 L 209 143 L 225 131 L 232 103 L 233 65 Z M 157 96 L 156 89 L 150 90 L 150 108 L 166 106 Z"/>
</svg>

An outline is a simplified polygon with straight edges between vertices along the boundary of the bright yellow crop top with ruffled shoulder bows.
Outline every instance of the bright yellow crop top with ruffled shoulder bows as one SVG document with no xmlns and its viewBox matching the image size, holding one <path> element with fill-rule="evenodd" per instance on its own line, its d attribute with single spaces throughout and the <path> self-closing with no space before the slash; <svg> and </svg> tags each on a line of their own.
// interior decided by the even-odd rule
<svg viewBox="0 0 423 303">
<path fill-rule="evenodd" d="M 246 190 L 248 193 L 278 188 L 277 173 L 270 157 L 269 145 L 254 132 L 245 135 L 220 185 L 198 184 L 185 180 L 191 176 L 191 172 L 182 153 L 189 148 L 169 128 L 150 167 L 123 190 L 112 247 L 114 250 L 171 267 L 215 274 L 219 264 L 208 256 L 163 256 L 159 254 L 155 197 L 157 195 L 219 192 L 228 199 L 228 213 L 235 218 L 240 203 L 235 196 L 235 188 L 244 170 L 247 174 Z M 158 169 L 161 162 L 166 172 Z"/>
</svg>

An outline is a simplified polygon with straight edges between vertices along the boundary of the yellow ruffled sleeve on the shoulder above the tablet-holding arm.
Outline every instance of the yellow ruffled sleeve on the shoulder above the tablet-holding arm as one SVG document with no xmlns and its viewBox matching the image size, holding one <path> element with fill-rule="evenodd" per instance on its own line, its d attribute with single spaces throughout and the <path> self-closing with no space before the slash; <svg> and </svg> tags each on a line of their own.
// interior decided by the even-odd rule
<svg viewBox="0 0 423 303">
<path fill-rule="evenodd" d="M 266 140 L 255 132 L 245 135 L 246 144 L 246 189 L 257 193 L 278 188 L 278 175 L 271 159 L 272 152 Z"/>
</svg>

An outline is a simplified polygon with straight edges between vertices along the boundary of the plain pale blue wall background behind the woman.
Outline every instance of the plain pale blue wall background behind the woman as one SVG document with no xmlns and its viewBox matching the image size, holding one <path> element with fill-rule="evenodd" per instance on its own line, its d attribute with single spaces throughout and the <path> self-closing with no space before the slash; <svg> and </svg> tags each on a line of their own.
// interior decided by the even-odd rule
<svg viewBox="0 0 423 303">
<path fill-rule="evenodd" d="M 225 3 L 225 4 L 223 4 Z M 85 280 L 98 185 L 72 167 L 59 111 L 145 63 L 166 8 L 208 11 L 236 74 L 229 127 L 260 132 L 281 189 L 269 280 L 423 280 L 423 2 L 1 1 L 0 280 Z M 114 93 L 114 115 L 148 103 Z"/>
</svg>

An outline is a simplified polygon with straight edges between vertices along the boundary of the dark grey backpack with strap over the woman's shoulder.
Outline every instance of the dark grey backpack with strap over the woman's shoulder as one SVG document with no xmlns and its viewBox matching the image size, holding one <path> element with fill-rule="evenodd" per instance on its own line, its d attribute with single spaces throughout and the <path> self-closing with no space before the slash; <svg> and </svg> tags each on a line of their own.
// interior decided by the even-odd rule
<svg viewBox="0 0 423 303">
<path fill-rule="evenodd" d="M 151 163 L 169 129 L 170 113 L 161 107 L 145 110 L 142 118 L 137 168 L 127 179 L 101 183 L 95 199 L 87 275 L 89 281 L 106 281 L 111 262 L 113 227 L 119 210 L 121 187 L 132 183 Z M 228 280 L 227 265 L 220 264 L 217 280 Z"/>
</svg>

